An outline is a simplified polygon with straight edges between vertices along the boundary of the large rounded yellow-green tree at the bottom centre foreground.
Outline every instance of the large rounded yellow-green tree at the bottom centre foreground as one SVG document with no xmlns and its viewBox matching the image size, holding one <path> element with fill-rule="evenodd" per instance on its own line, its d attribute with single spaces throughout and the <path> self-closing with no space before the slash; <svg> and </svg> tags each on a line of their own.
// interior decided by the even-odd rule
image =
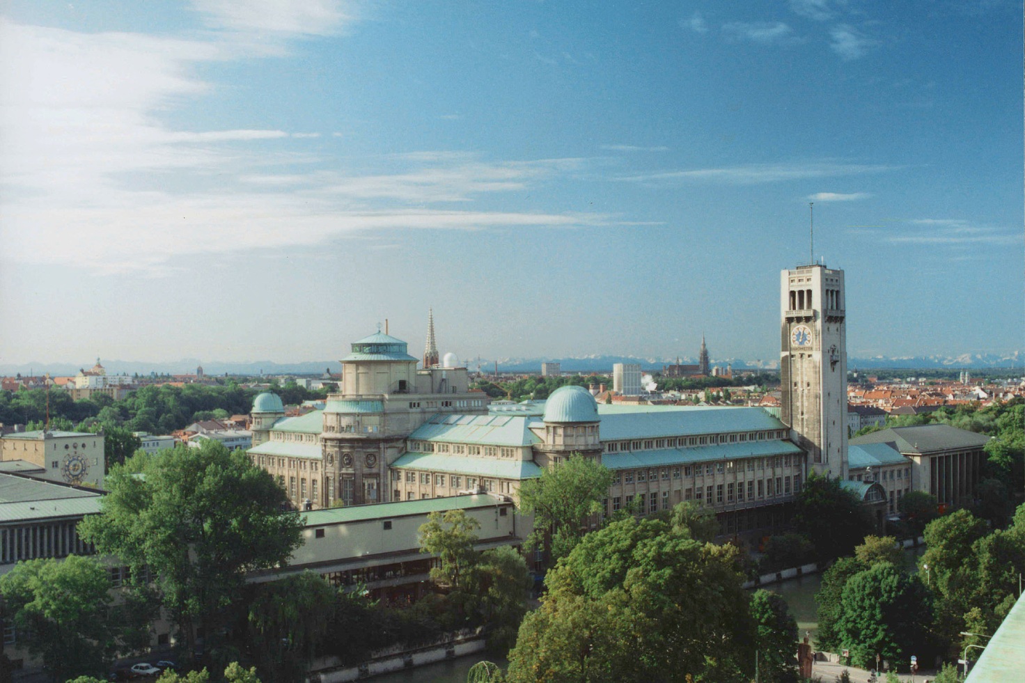
<svg viewBox="0 0 1025 683">
<path fill-rule="evenodd" d="M 754 653 L 737 552 L 655 518 L 587 534 L 549 570 L 508 680 L 739 680 Z"/>
</svg>

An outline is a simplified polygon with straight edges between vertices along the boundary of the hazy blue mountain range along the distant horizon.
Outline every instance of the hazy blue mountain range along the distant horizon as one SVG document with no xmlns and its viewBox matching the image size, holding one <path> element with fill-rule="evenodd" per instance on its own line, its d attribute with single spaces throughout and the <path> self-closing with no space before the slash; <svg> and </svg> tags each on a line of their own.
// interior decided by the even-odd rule
<svg viewBox="0 0 1025 683">
<path fill-rule="evenodd" d="M 484 372 L 493 371 L 495 361 L 498 362 L 498 369 L 502 372 L 540 372 L 541 363 L 560 363 L 563 372 L 596 372 L 606 374 L 612 371 L 614 363 L 640 363 L 644 370 L 660 370 L 663 365 L 670 365 L 676 362 L 676 358 L 640 358 L 637 356 L 578 356 L 571 358 L 499 358 L 481 359 L 480 368 Z M 697 359 L 681 358 L 681 363 L 696 364 Z M 316 374 L 320 375 L 325 369 L 337 373 L 341 370 L 338 361 L 310 361 L 300 363 L 275 363 L 272 361 L 256 362 L 215 362 L 201 363 L 195 358 L 183 358 L 177 361 L 118 361 L 105 360 L 104 367 L 109 374 L 135 374 L 147 375 L 151 372 L 169 374 L 192 374 L 196 368 L 203 366 L 203 371 L 207 375 L 243 374 L 243 375 L 276 375 L 276 374 Z M 739 358 L 712 359 L 712 365 L 732 365 L 735 370 L 775 370 L 779 366 L 779 361 L 773 360 L 745 360 Z M 466 362 L 470 370 L 478 369 L 477 359 Z M 74 375 L 78 373 L 82 366 L 70 363 L 25 363 L 22 365 L 0 364 L 0 375 L 10 376 L 14 374 L 43 374 L 49 372 L 51 375 Z M 91 365 L 89 366 L 91 367 Z M 1014 352 L 1010 354 L 961 354 L 959 356 L 870 356 L 848 358 L 850 369 L 870 369 L 870 368 L 914 368 L 914 369 L 986 369 L 986 368 L 1023 368 L 1025 374 L 1025 353 Z"/>
</svg>

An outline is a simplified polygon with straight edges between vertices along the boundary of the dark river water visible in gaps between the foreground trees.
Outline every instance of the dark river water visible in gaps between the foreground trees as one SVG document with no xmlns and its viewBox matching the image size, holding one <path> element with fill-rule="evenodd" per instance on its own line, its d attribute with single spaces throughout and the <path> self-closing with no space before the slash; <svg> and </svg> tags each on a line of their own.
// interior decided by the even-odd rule
<svg viewBox="0 0 1025 683">
<path fill-rule="evenodd" d="M 925 546 L 910 548 L 905 551 L 908 568 L 914 572 L 915 560 L 926 552 Z M 815 594 L 819 592 L 822 585 L 821 574 L 808 574 L 796 578 L 788 578 L 779 584 L 771 584 L 765 588 L 783 596 L 790 613 L 797 621 L 797 635 L 804 638 L 805 632 L 809 632 L 812 641 L 815 640 L 815 632 L 818 629 L 818 605 L 815 603 Z M 465 683 L 466 674 L 469 668 L 481 659 L 487 658 L 484 655 L 469 655 L 448 661 L 418 667 L 407 671 L 384 674 L 370 679 L 373 683 Z M 505 659 L 493 660 L 503 669 L 508 664 Z"/>
</svg>

